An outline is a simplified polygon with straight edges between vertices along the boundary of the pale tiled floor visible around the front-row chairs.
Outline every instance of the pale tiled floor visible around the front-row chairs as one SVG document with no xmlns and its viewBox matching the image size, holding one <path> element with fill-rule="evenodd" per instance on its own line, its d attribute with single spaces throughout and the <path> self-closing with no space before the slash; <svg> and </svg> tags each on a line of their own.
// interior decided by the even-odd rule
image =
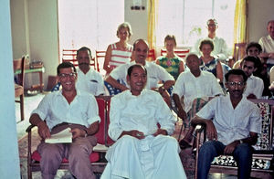
<svg viewBox="0 0 274 179">
<path fill-rule="evenodd" d="M 16 121 L 17 122 L 17 138 L 20 139 L 24 135 L 26 135 L 26 128 L 29 125 L 28 119 L 30 116 L 30 112 L 35 110 L 37 108 L 37 105 L 40 100 L 43 99 L 46 93 L 38 93 L 37 95 L 34 96 L 26 96 L 25 97 L 25 121 L 20 121 L 20 109 L 19 109 L 19 104 L 16 103 Z M 20 162 L 22 164 L 21 167 L 21 174 L 22 178 L 26 178 L 26 158 L 21 158 Z M 41 174 L 39 172 L 33 173 L 33 178 L 34 179 L 39 179 L 41 178 Z M 72 179 L 73 177 L 71 174 L 68 173 L 68 171 L 58 171 L 58 174 L 56 176 L 57 178 L 62 178 L 62 179 Z M 188 176 L 188 178 L 193 178 L 193 176 Z M 233 175 L 227 175 L 227 174 L 209 174 L 209 179 L 219 179 L 219 178 L 224 178 L 224 179 L 236 179 L 237 176 Z"/>
</svg>

